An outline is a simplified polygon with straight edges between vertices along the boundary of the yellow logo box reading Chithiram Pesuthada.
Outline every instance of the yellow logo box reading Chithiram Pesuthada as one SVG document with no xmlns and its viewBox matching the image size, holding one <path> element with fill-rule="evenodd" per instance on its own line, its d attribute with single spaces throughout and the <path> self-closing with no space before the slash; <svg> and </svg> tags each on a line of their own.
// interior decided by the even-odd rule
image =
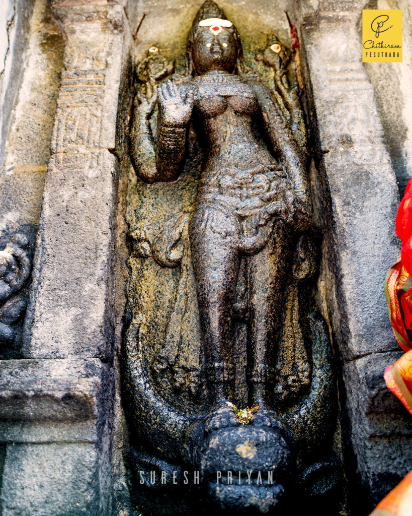
<svg viewBox="0 0 412 516">
<path fill-rule="evenodd" d="M 362 61 L 402 62 L 402 9 L 362 11 Z"/>
</svg>

